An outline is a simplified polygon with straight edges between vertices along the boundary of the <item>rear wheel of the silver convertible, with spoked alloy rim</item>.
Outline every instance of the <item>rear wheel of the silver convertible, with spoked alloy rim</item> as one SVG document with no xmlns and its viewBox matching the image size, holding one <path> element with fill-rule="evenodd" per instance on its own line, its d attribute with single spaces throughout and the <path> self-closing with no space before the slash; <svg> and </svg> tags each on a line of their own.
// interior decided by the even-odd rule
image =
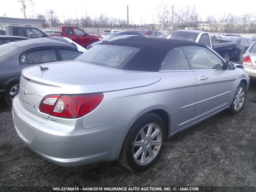
<svg viewBox="0 0 256 192">
<path fill-rule="evenodd" d="M 147 125 L 149 126 L 147 127 Z M 151 128 L 151 130 L 153 131 L 152 134 L 154 132 L 158 132 L 158 134 L 153 138 L 147 137 L 148 133 L 147 132 L 145 133 L 145 130 L 148 131 L 149 127 L 152 127 Z M 146 136 L 144 139 L 142 139 L 142 136 L 141 136 L 142 130 L 144 130 L 144 134 Z M 126 135 L 118 161 L 122 166 L 124 166 L 126 169 L 132 172 L 145 171 L 148 168 L 150 168 L 159 158 L 163 149 L 162 142 L 164 142 L 165 139 L 166 139 L 166 127 L 162 118 L 160 118 L 158 115 L 154 113 L 144 114 L 138 120 L 136 120 L 136 122 L 134 122 L 128 134 Z M 160 144 L 151 145 L 153 143 L 152 141 L 158 142 Z M 141 142 L 141 147 L 134 146 L 136 142 Z M 143 149 L 141 150 L 142 151 L 141 155 L 138 155 L 138 158 L 141 156 L 140 160 L 134 158 L 134 155 L 136 154 L 136 152 L 140 151 L 139 148 Z M 145 152 L 144 149 L 147 151 Z M 149 153 L 149 152 L 152 152 L 152 153 Z M 142 157 L 143 154 L 145 158 Z M 151 154 L 151 157 L 149 154 Z M 141 160 L 145 162 L 141 164 L 140 163 Z"/>
</svg>

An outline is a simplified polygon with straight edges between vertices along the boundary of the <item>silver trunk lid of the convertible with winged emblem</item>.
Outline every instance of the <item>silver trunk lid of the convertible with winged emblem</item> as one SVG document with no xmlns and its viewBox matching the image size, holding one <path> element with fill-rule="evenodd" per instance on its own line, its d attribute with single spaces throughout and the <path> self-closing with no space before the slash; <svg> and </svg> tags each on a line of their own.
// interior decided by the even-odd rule
<svg viewBox="0 0 256 192">
<path fill-rule="evenodd" d="M 160 80 L 158 72 L 119 70 L 78 61 L 60 61 L 24 68 L 20 78 L 20 102 L 30 112 L 39 111 L 42 99 L 50 94 L 85 94 L 148 86 Z"/>
</svg>

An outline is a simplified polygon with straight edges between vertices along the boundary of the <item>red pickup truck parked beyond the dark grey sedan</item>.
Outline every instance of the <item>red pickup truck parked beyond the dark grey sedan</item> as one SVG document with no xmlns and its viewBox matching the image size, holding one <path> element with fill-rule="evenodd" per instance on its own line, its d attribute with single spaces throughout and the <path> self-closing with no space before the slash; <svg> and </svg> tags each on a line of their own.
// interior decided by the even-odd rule
<svg viewBox="0 0 256 192">
<path fill-rule="evenodd" d="M 82 29 L 78 27 L 70 27 L 70 26 L 61 26 L 54 27 L 53 33 L 49 33 L 51 36 L 63 36 L 68 37 L 72 41 L 80 44 L 84 48 L 86 48 L 92 42 L 96 42 L 101 38 L 97 35 L 87 34 Z"/>
</svg>

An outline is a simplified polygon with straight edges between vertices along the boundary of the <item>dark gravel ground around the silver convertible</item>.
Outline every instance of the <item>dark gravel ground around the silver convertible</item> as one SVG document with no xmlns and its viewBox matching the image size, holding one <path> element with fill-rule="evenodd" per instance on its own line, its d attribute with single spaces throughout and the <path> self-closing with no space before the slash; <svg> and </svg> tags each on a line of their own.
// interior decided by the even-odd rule
<svg viewBox="0 0 256 192">
<path fill-rule="evenodd" d="M 56 166 L 18 138 L 12 110 L 0 102 L 0 186 L 254 186 L 256 81 L 236 116 L 226 111 L 168 140 L 158 162 L 133 173 L 117 161 L 76 168 Z"/>
</svg>

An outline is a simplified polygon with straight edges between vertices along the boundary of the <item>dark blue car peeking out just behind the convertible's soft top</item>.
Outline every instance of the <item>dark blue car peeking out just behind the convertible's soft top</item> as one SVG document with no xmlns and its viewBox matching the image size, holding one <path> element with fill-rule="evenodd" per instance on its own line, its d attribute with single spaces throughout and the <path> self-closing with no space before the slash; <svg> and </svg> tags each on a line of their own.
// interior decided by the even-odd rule
<svg viewBox="0 0 256 192">
<path fill-rule="evenodd" d="M 101 44 L 104 41 L 109 41 L 112 38 L 117 37 L 117 36 L 121 36 L 121 35 L 138 35 L 138 36 L 143 36 L 143 34 L 140 31 L 118 31 L 118 32 L 113 32 L 113 33 L 110 33 L 110 34 L 106 35 L 100 41 L 97 41 L 97 42 L 94 42 L 94 43 L 88 45 L 87 49 L 90 49 L 90 48 L 92 48 L 92 47 L 94 47 L 96 45 Z"/>
</svg>

